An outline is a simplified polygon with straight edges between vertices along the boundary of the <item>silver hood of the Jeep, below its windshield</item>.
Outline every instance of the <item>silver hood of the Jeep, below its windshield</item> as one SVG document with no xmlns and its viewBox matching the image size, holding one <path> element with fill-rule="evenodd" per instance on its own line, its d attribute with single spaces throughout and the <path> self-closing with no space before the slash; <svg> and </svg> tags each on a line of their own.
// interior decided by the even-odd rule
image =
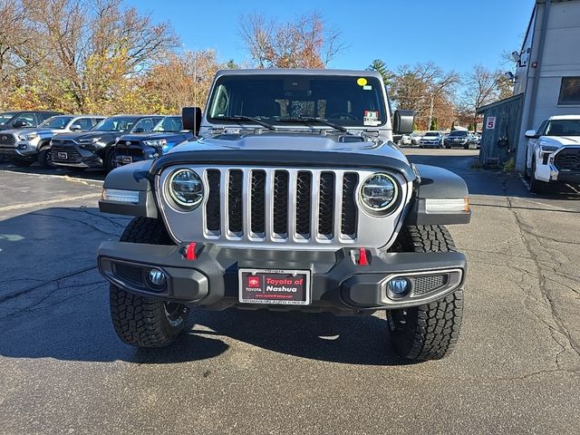
<svg viewBox="0 0 580 435">
<path fill-rule="evenodd" d="M 196 150 L 292 150 L 292 151 L 332 151 L 376 154 L 407 162 L 401 150 L 392 142 L 370 140 L 362 136 L 340 134 L 319 135 L 315 133 L 288 133 L 268 131 L 255 133 L 223 133 L 179 145 L 170 153 Z"/>
</svg>

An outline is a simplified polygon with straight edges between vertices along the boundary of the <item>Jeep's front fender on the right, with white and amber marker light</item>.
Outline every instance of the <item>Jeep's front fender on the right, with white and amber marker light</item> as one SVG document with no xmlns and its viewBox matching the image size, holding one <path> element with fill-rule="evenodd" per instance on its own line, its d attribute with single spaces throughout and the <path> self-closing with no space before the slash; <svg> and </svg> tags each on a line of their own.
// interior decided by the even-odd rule
<svg viewBox="0 0 580 435">
<path fill-rule="evenodd" d="M 447 169 L 415 165 L 420 183 L 415 189 L 405 225 L 468 224 L 469 190 L 459 175 Z"/>
</svg>

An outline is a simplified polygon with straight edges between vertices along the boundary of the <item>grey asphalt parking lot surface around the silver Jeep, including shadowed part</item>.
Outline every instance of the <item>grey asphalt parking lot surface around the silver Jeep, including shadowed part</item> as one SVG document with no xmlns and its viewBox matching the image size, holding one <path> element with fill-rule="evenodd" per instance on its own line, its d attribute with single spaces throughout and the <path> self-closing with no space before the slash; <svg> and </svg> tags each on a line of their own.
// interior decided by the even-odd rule
<svg viewBox="0 0 580 435">
<path fill-rule="evenodd" d="M 99 243 L 128 218 L 102 175 L 0 165 L 0 433 L 580 432 L 580 193 L 532 196 L 477 150 L 407 149 L 469 184 L 459 348 L 408 364 L 382 314 L 194 311 L 162 351 L 122 344 Z"/>
</svg>

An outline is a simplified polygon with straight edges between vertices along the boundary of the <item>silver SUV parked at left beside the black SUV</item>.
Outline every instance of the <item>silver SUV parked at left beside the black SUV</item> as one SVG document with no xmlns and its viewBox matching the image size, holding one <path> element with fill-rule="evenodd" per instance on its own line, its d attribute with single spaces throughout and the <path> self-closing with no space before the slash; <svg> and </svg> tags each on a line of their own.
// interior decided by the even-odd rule
<svg viewBox="0 0 580 435">
<path fill-rule="evenodd" d="M 34 129 L 14 131 L 12 161 L 16 166 L 26 167 L 38 160 L 43 168 L 51 168 L 50 141 L 54 135 L 67 131 L 88 131 L 103 119 L 103 116 L 93 115 L 56 115 Z"/>
</svg>

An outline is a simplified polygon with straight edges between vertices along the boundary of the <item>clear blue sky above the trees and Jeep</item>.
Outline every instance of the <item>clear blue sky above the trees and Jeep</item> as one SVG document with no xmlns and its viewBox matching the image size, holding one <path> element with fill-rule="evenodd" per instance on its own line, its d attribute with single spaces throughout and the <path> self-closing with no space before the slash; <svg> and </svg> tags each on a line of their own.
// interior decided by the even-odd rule
<svg viewBox="0 0 580 435">
<path fill-rule="evenodd" d="M 247 14 L 280 22 L 314 11 L 340 31 L 345 49 L 331 68 L 364 69 L 382 59 L 391 70 L 402 64 L 433 61 L 446 71 L 468 72 L 511 66 L 504 51 L 518 50 L 534 0 L 128 0 L 155 21 L 169 21 L 186 49 L 213 49 L 218 60 L 251 63 L 238 35 Z M 504 64 L 502 64 L 504 63 Z"/>
</svg>

